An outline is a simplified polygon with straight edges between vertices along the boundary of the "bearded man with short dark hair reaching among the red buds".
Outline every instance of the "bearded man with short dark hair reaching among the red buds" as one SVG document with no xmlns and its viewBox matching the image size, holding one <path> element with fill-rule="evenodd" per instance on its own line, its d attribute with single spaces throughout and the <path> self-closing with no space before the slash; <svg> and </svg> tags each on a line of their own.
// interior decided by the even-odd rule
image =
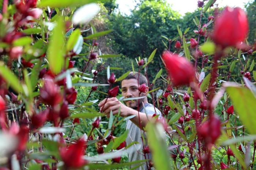
<svg viewBox="0 0 256 170">
<path fill-rule="evenodd" d="M 142 74 L 139 74 L 138 72 L 135 72 L 134 74 L 133 72 L 130 72 L 128 76 L 121 81 L 121 91 L 122 91 L 122 96 L 124 98 L 139 97 L 138 80 L 139 80 L 139 85 L 142 85 L 142 84 L 147 85 L 147 78 Z M 148 92 L 148 86 L 146 88 L 145 93 L 140 93 L 140 96 L 146 96 L 147 92 Z M 146 127 L 148 120 L 152 118 L 152 115 L 156 113 L 157 115 L 161 116 L 161 112 L 157 108 L 154 108 L 152 104 L 148 103 L 147 97 L 141 98 L 139 100 L 139 113 L 138 113 L 138 100 L 125 101 L 126 105 L 118 101 L 116 97 L 108 98 L 106 103 L 105 103 L 105 100 L 106 98 L 102 100 L 98 104 L 98 106 L 100 107 L 100 110 L 102 112 L 107 114 L 107 116 L 109 116 L 110 110 L 112 110 L 113 115 L 117 114 L 119 108 L 121 108 L 120 116 L 122 117 L 135 115 L 135 117 L 132 117 L 131 119 L 127 120 L 127 123 L 126 123 L 126 129 L 129 130 L 126 143 L 127 145 L 129 145 L 131 142 L 137 141 L 142 145 L 143 142 L 141 139 L 141 131 L 139 126 L 141 126 L 143 130 L 144 127 Z M 143 104 L 148 116 L 145 113 Z M 140 125 L 139 125 L 139 117 L 140 117 Z M 139 152 L 140 153 L 133 152 L 132 154 L 129 154 L 129 162 L 145 159 L 144 154 L 141 152 L 141 150 Z M 151 159 L 151 154 L 148 154 L 147 159 Z M 146 164 L 145 166 L 140 166 L 140 168 L 138 169 L 139 170 L 147 169 Z"/>
</svg>

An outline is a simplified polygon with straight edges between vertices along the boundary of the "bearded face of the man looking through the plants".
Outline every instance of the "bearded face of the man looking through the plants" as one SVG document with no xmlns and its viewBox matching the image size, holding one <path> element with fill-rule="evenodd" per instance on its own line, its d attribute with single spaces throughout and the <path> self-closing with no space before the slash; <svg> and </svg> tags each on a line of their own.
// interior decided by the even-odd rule
<svg viewBox="0 0 256 170">
<path fill-rule="evenodd" d="M 139 97 L 139 89 L 138 89 L 138 80 L 131 78 L 129 80 L 123 80 L 121 83 L 122 87 L 122 96 L 124 98 L 131 98 L 131 97 Z M 140 96 L 144 96 L 144 93 L 141 93 Z M 146 100 L 146 98 L 140 99 L 140 105 Z M 128 100 L 124 101 L 125 104 L 133 109 L 137 109 L 138 107 L 138 100 Z"/>
</svg>

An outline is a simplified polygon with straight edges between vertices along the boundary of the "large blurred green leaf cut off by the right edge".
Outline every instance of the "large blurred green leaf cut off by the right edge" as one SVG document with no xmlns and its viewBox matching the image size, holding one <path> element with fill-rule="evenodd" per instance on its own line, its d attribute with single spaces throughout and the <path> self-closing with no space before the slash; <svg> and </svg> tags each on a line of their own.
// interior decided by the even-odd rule
<svg viewBox="0 0 256 170">
<path fill-rule="evenodd" d="M 253 93 L 242 87 L 227 87 L 226 90 L 242 123 L 250 134 L 256 134 L 253 127 L 256 124 L 256 98 Z"/>
</svg>

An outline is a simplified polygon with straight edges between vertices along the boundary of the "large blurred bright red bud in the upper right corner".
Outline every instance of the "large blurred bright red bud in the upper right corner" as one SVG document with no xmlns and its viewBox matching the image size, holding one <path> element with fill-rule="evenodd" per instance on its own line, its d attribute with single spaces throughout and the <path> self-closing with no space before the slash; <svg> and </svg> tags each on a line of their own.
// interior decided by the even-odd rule
<svg viewBox="0 0 256 170">
<path fill-rule="evenodd" d="M 239 7 L 226 7 L 215 19 L 211 37 L 217 45 L 225 48 L 239 45 L 245 40 L 247 33 L 248 20 L 245 11 Z"/>
</svg>

